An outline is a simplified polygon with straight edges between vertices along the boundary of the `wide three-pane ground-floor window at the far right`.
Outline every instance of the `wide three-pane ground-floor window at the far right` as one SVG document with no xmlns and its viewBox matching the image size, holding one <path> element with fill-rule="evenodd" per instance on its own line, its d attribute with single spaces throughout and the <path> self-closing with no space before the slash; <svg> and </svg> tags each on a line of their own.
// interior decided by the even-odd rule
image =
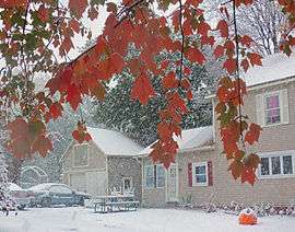
<svg viewBox="0 0 295 232">
<path fill-rule="evenodd" d="M 294 154 L 291 152 L 280 152 L 281 154 L 271 153 L 261 156 L 259 169 L 260 177 L 276 177 L 294 174 Z"/>
</svg>

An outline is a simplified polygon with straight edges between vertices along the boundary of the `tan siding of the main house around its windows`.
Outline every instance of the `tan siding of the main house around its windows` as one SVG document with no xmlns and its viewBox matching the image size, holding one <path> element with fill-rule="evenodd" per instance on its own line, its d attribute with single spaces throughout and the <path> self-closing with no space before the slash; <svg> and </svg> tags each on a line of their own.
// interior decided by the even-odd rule
<svg viewBox="0 0 295 232">
<path fill-rule="evenodd" d="M 263 127 L 259 142 L 256 143 L 248 152 L 275 152 L 275 151 L 295 151 L 295 82 L 288 82 L 272 85 L 262 89 L 250 90 L 245 98 L 243 112 L 257 121 L 256 95 L 279 90 L 287 90 L 288 96 L 288 124 Z M 215 102 L 213 101 L 213 105 Z M 213 118 L 216 118 L 214 115 Z M 240 179 L 235 181 L 227 171 L 228 161 L 223 151 L 219 134 L 219 121 L 214 121 L 215 149 L 211 151 L 191 151 L 177 154 L 176 163 L 178 164 L 179 178 L 179 202 L 188 196 L 191 196 L 193 205 L 200 205 L 211 200 L 216 205 L 229 204 L 237 201 L 244 205 L 273 202 L 279 205 L 295 204 L 295 176 L 280 178 L 258 179 L 253 186 L 241 184 Z M 295 152 L 294 152 L 295 153 Z M 213 185 L 189 187 L 188 183 L 188 164 L 193 162 L 212 161 Z M 149 158 L 143 158 L 144 165 L 151 163 Z M 293 164 L 294 165 L 294 164 Z M 142 201 L 144 206 L 164 207 L 166 189 L 146 189 L 143 179 Z"/>
</svg>

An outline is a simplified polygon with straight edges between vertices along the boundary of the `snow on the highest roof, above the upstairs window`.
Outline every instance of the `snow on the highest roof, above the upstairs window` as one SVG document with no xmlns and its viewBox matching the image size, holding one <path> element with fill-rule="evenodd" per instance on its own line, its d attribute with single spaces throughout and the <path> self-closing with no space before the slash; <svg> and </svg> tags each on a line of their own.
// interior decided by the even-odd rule
<svg viewBox="0 0 295 232">
<path fill-rule="evenodd" d="M 274 54 L 267 56 L 262 60 L 262 66 L 250 68 L 244 79 L 248 86 L 273 82 L 295 77 L 295 54 L 290 57 L 285 54 Z"/>
</svg>

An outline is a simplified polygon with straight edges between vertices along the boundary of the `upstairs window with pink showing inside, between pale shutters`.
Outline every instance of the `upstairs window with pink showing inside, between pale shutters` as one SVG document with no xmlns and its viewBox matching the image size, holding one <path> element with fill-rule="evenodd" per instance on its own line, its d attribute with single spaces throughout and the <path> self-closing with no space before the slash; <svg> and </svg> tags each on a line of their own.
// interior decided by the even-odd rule
<svg viewBox="0 0 295 232">
<path fill-rule="evenodd" d="M 281 123 L 280 95 L 266 96 L 264 100 L 266 125 Z"/>
</svg>

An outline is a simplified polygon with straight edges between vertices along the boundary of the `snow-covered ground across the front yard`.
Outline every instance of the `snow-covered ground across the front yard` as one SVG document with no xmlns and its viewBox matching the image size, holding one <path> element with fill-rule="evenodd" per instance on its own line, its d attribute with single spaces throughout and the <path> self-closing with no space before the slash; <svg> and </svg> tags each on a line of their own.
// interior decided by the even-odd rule
<svg viewBox="0 0 295 232">
<path fill-rule="evenodd" d="M 237 217 L 176 209 L 93 213 L 84 208 L 30 209 L 8 218 L 0 214 L 0 232 L 294 232 L 295 218 L 259 218 L 257 225 L 239 225 Z"/>
</svg>

